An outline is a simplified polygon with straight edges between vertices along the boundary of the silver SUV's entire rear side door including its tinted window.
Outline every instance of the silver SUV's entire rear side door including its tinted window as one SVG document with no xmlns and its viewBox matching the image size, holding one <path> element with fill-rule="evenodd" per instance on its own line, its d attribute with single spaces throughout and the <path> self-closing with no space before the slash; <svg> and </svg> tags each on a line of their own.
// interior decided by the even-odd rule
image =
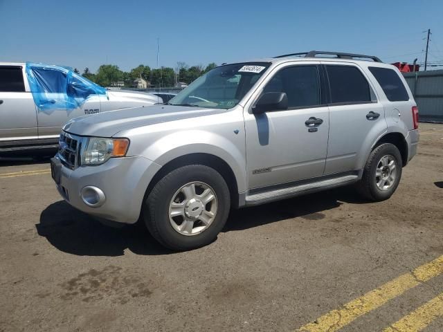
<svg viewBox="0 0 443 332">
<path fill-rule="evenodd" d="M 361 169 L 361 156 L 386 129 L 383 105 L 355 64 L 327 62 L 325 72 L 330 86 L 325 175 Z"/>
</svg>

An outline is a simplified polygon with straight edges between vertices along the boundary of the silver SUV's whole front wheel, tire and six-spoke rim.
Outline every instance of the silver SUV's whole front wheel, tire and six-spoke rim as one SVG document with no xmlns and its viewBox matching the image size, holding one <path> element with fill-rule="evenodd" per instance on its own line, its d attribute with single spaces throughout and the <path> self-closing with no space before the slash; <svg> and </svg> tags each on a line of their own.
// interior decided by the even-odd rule
<svg viewBox="0 0 443 332">
<path fill-rule="evenodd" d="M 215 169 L 187 165 L 166 174 L 143 207 L 152 236 L 172 250 L 206 246 L 221 231 L 230 209 L 228 185 Z"/>
</svg>

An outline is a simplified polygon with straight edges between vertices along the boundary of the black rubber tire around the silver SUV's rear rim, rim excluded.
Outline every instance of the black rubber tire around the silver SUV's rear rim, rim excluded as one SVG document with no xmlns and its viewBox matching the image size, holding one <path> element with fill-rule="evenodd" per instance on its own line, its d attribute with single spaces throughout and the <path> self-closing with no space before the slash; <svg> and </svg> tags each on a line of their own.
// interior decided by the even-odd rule
<svg viewBox="0 0 443 332">
<path fill-rule="evenodd" d="M 396 164 L 395 180 L 392 181 L 392 185 L 387 190 L 379 189 L 376 181 L 377 165 L 379 165 L 381 158 L 384 156 L 392 156 Z M 399 149 L 393 144 L 383 143 L 372 150 L 363 169 L 361 181 L 357 184 L 357 189 L 365 199 L 370 201 L 378 202 L 389 199 L 399 185 L 402 168 L 403 162 Z"/>
</svg>

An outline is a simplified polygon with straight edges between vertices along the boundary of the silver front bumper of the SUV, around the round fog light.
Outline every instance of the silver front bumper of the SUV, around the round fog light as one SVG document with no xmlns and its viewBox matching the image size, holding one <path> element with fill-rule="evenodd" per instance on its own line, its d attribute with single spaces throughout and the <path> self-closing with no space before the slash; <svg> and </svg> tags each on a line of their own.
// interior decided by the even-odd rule
<svg viewBox="0 0 443 332">
<path fill-rule="evenodd" d="M 161 168 L 147 158 L 111 158 L 98 166 L 69 169 L 62 166 L 57 190 L 74 208 L 102 219 L 120 223 L 138 220 L 147 185 Z M 105 202 L 93 208 L 82 199 L 84 187 L 97 187 Z"/>
</svg>

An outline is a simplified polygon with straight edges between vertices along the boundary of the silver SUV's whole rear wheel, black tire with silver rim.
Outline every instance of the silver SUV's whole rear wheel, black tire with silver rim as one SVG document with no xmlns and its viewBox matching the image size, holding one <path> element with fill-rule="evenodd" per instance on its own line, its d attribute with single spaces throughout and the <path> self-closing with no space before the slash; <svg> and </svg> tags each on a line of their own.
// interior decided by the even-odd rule
<svg viewBox="0 0 443 332">
<path fill-rule="evenodd" d="M 389 199 L 399 185 L 402 166 L 401 154 L 395 145 L 379 145 L 366 162 L 358 184 L 359 191 L 371 201 Z"/>
</svg>

